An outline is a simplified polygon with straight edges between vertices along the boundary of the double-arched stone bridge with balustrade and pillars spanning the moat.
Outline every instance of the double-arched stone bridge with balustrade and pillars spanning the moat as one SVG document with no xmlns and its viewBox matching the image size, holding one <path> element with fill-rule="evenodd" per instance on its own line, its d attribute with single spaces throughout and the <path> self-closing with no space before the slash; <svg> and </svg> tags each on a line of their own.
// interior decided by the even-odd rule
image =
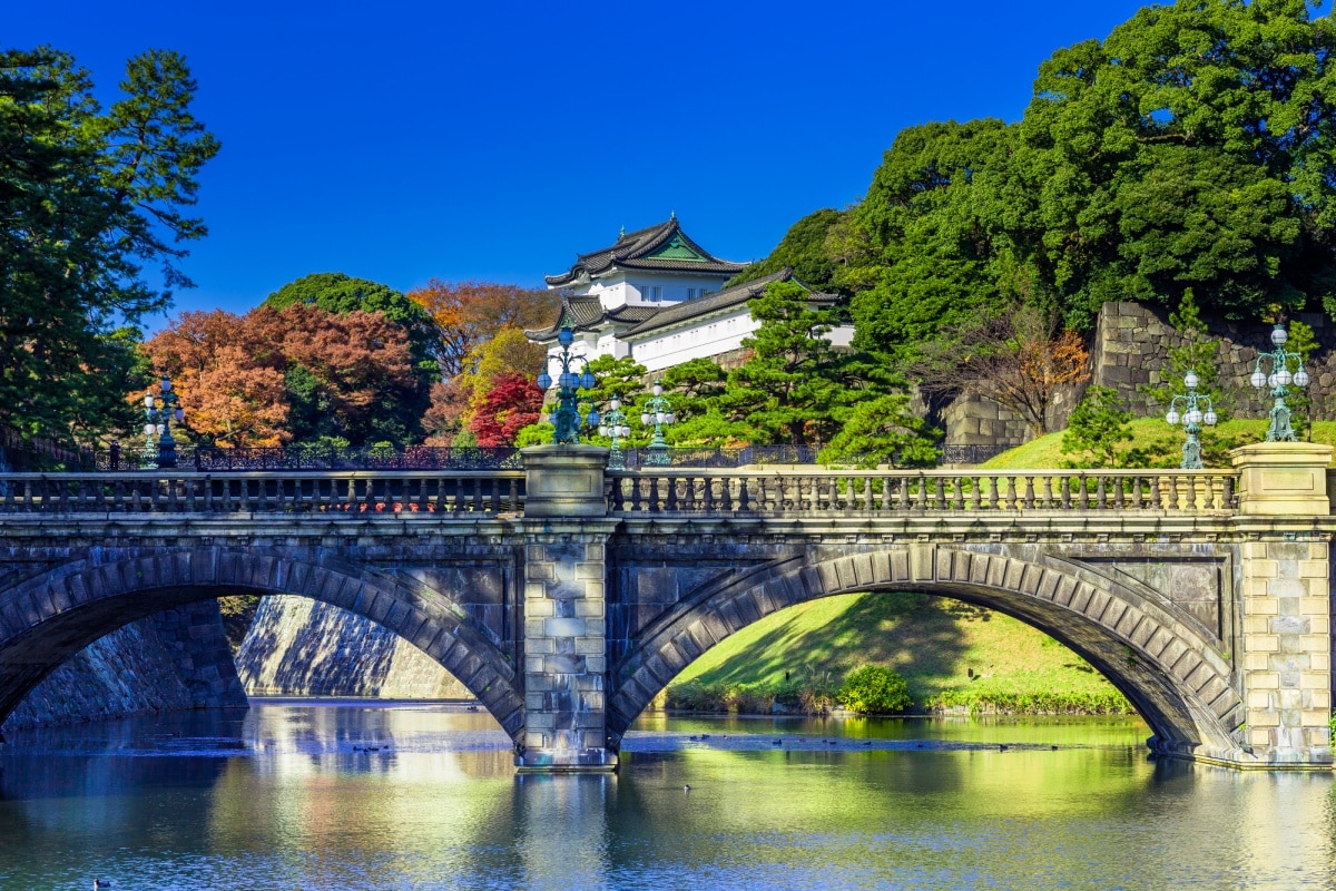
<svg viewBox="0 0 1336 891">
<path fill-rule="evenodd" d="M 63 660 L 224 593 L 313 597 L 464 683 L 521 769 L 611 769 L 683 668 L 786 606 L 918 590 L 1102 672 L 1162 755 L 1332 765 L 1331 449 L 1232 470 L 524 470 L 0 476 L 0 720 Z"/>
</svg>

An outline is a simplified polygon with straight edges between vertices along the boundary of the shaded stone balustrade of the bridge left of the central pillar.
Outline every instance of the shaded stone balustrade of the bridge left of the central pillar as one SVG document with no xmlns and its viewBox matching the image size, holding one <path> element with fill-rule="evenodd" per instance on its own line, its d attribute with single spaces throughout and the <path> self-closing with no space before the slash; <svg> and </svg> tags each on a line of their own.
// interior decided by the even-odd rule
<svg viewBox="0 0 1336 891">
<path fill-rule="evenodd" d="M 329 473 L 13 473 L 0 514 L 319 513 L 337 517 L 518 512 L 522 470 Z"/>
</svg>

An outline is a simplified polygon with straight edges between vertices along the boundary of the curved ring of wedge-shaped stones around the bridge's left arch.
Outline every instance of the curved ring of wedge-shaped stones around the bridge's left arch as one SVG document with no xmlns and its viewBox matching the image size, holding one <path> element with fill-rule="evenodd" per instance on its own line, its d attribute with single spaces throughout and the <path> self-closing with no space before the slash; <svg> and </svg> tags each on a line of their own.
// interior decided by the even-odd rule
<svg viewBox="0 0 1336 891">
<path fill-rule="evenodd" d="M 146 616 L 224 593 L 299 594 L 339 606 L 425 652 L 516 736 L 524 700 L 501 649 L 445 596 L 337 561 L 183 548 L 71 561 L 0 590 L 0 721 L 65 659 Z"/>
</svg>

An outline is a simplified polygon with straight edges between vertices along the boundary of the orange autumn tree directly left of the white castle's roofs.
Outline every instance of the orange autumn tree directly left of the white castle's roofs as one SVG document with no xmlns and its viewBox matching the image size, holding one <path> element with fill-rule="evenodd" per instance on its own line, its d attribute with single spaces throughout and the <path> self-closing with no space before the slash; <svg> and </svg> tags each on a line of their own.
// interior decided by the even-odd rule
<svg viewBox="0 0 1336 891">
<path fill-rule="evenodd" d="M 433 278 L 406 297 L 421 306 L 440 329 L 441 374 L 466 373 L 470 354 L 502 329 L 552 325 L 560 305 L 553 291 L 494 282 L 444 282 Z"/>
</svg>

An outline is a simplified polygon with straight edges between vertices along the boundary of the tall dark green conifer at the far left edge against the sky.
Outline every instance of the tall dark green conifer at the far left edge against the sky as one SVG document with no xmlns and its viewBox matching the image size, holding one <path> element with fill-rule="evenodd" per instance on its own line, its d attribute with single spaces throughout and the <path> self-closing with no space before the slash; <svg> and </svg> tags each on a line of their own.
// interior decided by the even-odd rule
<svg viewBox="0 0 1336 891">
<path fill-rule="evenodd" d="M 68 53 L 0 51 L 0 426 L 88 441 L 130 422 L 135 322 L 188 287 L 183 208 L 218 142 L 184 59 L 130 60 L 103 110 Z M 158 264 L 150 278 L 146 264 Z"/>
</svg>

